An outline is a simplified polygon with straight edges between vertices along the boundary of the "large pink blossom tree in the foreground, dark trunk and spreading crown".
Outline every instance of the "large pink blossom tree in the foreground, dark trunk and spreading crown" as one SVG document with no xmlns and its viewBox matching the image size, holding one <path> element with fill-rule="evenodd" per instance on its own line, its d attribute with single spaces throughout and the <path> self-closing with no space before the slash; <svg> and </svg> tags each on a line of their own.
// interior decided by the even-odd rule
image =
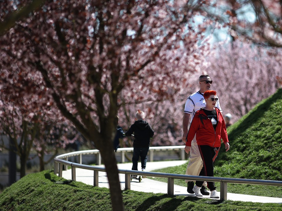
<svg viewBox="0 0 282 211">
<path fill-rule="evenodd" d="M 61 113 L 100 150 L 113 210 L 123 210 L 112 150 L 120 95 L 127 101 L 162 101 L 183 87 L 204 59 L 206 49 L 198 41 L 206 25 L 193 20 L 204 3 L 46 1 L 1 37 L 3 67 L 21 84 L 16 92 L 50 93 Z M 37 89 L 27 89 L 30 80 Z M 125 87 L 128 92 L 121 93 Z"/>
</svg>

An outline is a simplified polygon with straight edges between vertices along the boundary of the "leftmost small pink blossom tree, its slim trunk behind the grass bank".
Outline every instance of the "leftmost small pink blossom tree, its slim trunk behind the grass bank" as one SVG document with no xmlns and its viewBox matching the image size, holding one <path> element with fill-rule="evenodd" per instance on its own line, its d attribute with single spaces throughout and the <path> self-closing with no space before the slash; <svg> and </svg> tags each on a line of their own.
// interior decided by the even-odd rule
<svg viewBox="0 0 282 211">
<path fill-rule="evenodd" d="M 38 137 L 41 115 L 43 115 L 44 108 L 49 107 L 48 103 L 51 102 L 51 99 L 45 95 L 44 90 L 38 91 L 38 86 L 32 82 L 29 76 L 27 77 L 29 79 L 25 80 L 25 84 L 21 84 L 20 80 L 16 81 L 13 73 L 4 67 L 3 54 L 0 55 L 0 58 L 0 129 L 13 142 L 15 153 L 20 158 L 20 176 L 23 177 L 33 142 Z M 17 77 L 19 79 L 24 75 L 18 74 Z M 26 90 L 37 90 L 38 95 L 28 95 Z"/>
</svg>

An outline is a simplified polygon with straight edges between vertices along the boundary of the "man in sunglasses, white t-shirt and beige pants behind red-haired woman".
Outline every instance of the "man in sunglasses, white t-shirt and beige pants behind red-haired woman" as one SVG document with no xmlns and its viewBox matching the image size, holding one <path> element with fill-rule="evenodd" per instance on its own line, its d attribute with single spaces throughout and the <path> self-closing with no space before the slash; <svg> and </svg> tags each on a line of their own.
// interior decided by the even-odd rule
<svg viewBox="0 0 282 211">
<path fill-rule="evenodd" d="M 208 74 L 201 75 L 199 77 L 199 85 L 200 90 L 197 92 L 194 92 L 191 94 L 185 103 L 184 108 L 184 115 L 183 115 L 183 136 L 182 141 L 186 144 L 186 136 L 188 134 L 188 125 L 189 125 L 189 118 L 191 116 L 191 121 L 194 117 L 194 114 L 196 111 L 200 110 L 201 108 L 206 106 L 206 101 L 204 99 L 204 92 L 211 89 L 212 80 L 209 77 Z M 216 96 L 217 98 L 217 96 Z M 220 112 L 222 112 L 219 100 L 216 101 L 215 107 L 219 108 Z M 187 165 L 186 169 L 186 175 L 196 175 L 198 176 L 200 171 L 203 167 L 203 161 L 200 156 L 199 148 L 196 142 L 196 139 L 194 138 L 191 143 L 191 149 L 189 154 L 189 163 Z M 194 188 L 194 181 L 191 180 L 185 180 L 187 183 L 187 192 L 193 194 L 193 188 Z M 204 182 L 203 186 L 201 187 L 200 191 L 202 195 L 209 195 L 209 192 L 206 190 L 207 183 Z"/>
</svg>

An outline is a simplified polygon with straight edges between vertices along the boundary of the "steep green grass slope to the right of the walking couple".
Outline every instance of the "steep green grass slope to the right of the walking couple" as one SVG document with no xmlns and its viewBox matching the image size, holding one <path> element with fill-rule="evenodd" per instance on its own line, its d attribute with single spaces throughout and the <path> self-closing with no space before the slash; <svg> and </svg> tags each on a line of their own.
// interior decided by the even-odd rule
<svg viewBox="0 0 282 211">
<path fill-rule="evenodd" d="M 230 150 L 221 148 L 216 176 L 282 180 L 282 89 L 228 128 Z"/>
</svg>

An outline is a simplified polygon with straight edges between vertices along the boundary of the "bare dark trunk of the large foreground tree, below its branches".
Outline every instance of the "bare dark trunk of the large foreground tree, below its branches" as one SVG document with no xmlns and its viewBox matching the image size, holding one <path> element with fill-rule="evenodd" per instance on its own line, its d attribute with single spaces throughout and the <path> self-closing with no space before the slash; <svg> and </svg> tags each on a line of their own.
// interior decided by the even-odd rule
<svg viewBox="0 0 282 211">
<path fill-rule="evenodd" d="M 100 153 L 103 158 L 109 180 L 112 209 L 113 211 L 124 211 L 115 153 L 112 148 L 112 150 L 109 150 L 108 147 L 104 148 L 107 149 L 100 149 Z"/>
</svg>

